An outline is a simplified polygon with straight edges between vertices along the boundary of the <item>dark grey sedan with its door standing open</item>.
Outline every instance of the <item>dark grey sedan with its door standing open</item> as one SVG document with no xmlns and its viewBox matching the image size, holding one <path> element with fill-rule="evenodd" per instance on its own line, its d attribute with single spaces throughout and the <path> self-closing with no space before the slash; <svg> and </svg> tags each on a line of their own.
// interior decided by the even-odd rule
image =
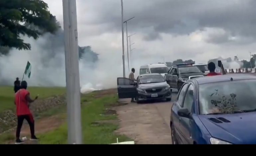
<svg viewBox="0 0 256 156">
<path fill-rule="evenodd" d="M 170 86 L 161 74 L 142 74 L 138 82 L 127 78 L 117 78 L 119 99 L 135 97 L 137 103 L 143 100 L 166 99 L 171 101 Z"/>
</svg>

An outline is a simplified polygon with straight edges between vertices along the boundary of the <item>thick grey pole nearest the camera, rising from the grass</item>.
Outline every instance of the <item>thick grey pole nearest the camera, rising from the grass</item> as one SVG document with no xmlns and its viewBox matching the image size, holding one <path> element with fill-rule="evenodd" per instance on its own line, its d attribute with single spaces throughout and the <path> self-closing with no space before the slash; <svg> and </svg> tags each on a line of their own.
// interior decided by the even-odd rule
<svg viewBox="0 0 256 156">
<path fill-rule="evenodd" d="M 76 0 L 63 0 L 67 88 L 67 141 L 82 144 Z"/>
</svg>

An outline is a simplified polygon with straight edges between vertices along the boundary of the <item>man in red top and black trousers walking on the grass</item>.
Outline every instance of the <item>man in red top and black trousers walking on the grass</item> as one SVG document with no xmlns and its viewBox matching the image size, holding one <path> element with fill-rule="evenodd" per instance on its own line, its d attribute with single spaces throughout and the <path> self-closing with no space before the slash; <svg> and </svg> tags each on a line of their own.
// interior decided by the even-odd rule
<svg viewBox="0 0 256 156">
<path fill-rule="evenodd" d="M 36 96 L 35 100 L 31 100 L 30 93 L 27 90 L 28 84 L 26 81 L 21 82 L 20 90 L 15 93 L 15 101 L 14 104 L 16 105 L 16 114 L 18 118 L 18 125 L 16 130 L 16 142 L 15 144 L 23 144 L 24 142 L 20 140 L 20 131 L 23 124 L 23 120 L 26 119 L 30 126 L 31 132 L 31 141 L 37 141 L 38 138 L 35 136 L 35 121 L 30 112 L 29 106 L 30 103 L 37 100 L 38 96 Z"/>
</svg>

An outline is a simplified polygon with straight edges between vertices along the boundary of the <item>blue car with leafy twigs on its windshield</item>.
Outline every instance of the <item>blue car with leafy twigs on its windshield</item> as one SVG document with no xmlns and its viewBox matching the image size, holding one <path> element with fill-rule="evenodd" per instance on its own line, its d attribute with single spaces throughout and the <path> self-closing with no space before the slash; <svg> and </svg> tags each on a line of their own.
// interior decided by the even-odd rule
<svg viewBox="0 0 256 156">
<path fill-rule="evenodd" d="M 187 81 L 172 106 L 170 126 L 173 144 L 256 144 L 256 76 Z"/>
</svg>

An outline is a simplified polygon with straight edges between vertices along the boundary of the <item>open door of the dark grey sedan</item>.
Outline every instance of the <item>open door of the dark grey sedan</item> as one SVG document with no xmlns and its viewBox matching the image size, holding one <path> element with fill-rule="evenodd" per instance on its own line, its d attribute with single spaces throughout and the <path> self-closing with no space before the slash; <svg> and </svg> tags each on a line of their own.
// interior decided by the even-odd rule
<svg viewBox="0 0 256 156">
<path fill-rule="evenodd" d="M 119 99 L 135 98 L 137 95 L 136 82 L 128 78 L 117 78 L 117 91 Z"/>
</svg>

